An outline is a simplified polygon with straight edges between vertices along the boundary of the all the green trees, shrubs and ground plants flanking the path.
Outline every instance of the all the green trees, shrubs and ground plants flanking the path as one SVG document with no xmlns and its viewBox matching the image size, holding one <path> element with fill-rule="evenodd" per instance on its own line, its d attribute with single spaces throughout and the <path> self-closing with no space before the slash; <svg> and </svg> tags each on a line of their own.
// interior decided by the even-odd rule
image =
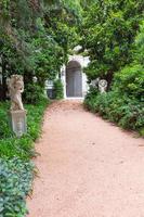
<svg viewBox="0 0 144 217">
<path fill-rule="evenodd" d="M 44 82 L 52 80 L 55 99 L 63 99 L 60 72 L 76 46 L 90 58 L 84 106 L 144 136 L 144 2 L 1 0 L 0 26 L 0 216 L 23 217 L 35 175 L 34 142 L 50 103 Z M 19 139 L 8 118 L 13 74 L 25 84 L 28 131 Z M 107 80 L 106 93 L 91 86 L 96 78 Z"/>
</svg>

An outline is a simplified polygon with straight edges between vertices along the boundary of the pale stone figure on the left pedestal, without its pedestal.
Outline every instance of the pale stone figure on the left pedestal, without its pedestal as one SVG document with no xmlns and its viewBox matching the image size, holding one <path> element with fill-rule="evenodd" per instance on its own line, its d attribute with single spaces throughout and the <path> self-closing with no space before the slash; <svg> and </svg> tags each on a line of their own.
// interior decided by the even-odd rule
<svg viewBox="0 0 144 217">
<path fill-rule="evenodd" d="M 24 92 L 23 76 L 12 75 L 8 82 L 9 94 L 11 98 L 11 111 L 24 111 L 22 92 Z"/>
</svg>

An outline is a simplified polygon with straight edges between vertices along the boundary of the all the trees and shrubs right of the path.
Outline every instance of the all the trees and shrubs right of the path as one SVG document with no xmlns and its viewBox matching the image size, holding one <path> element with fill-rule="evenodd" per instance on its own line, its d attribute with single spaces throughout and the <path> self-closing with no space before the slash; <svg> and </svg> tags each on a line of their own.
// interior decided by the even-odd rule
<svg viewBox="0 0 144 217">
<path fill-rule="evenodd" d="M 90 82 L 108 81 L 106 94 L 90 88 L 86 106 L 144 136 L 143 12 L 143 1 L 97 1 L 86 14 L 82 42 L 91 58 Z"/>
</svg>

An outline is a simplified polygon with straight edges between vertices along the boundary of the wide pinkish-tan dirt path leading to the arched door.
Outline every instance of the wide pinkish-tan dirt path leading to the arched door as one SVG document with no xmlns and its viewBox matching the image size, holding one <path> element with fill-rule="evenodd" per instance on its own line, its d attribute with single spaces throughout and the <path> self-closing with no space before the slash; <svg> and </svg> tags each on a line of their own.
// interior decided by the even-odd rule
<svg viewBox="0 0 144 217">
<path fill-rule="evenodd" d="M 48 110 L 37 151 L 28 217 L 144 217 L 144 140 L 69 101 Z"/>
</svg>

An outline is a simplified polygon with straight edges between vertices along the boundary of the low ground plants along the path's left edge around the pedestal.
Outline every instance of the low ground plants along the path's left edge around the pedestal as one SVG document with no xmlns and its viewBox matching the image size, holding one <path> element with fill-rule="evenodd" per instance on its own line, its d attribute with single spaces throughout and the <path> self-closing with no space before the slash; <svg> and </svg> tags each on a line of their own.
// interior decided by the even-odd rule
<svg viewBox="0 0 144 217">
<path fill-rule="evenodd" d="M 40 136 L 41 122 L 49 101 L 25 105 L 28 131 L 16 138 L 10 130 L 10 103 L 0 103 L 0 217 L 24 217 L 27 214 L 26 196 L 31 190 L 36 156 L 34 142 Z"/>
</svg>

